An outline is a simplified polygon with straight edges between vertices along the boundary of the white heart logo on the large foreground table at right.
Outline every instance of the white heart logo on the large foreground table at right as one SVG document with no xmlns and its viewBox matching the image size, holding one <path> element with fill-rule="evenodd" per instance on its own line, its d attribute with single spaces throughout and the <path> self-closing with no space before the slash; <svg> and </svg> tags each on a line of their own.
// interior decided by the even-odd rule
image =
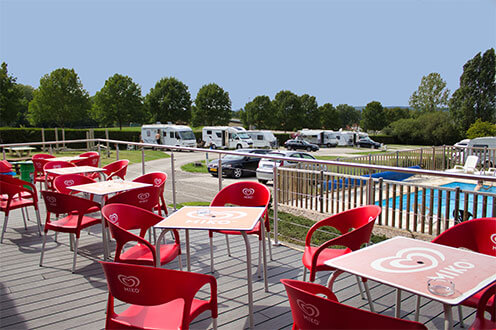
<svg viewBox="0 0 496 330">
<path fill-rule="evenodd" d="M 376 259 L 370 266 L 385 273 L 415 273 L 435 268 L 444 259 L 437 250 L 412 247 L 399 250 L 395 256 Z"/>
</svg>

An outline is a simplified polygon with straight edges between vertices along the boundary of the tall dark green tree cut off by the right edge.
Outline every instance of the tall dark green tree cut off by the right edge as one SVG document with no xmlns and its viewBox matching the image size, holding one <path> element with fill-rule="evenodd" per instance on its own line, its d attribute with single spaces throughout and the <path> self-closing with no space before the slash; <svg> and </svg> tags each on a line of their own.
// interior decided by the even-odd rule
<svg viewBox="0 0 496 330">
<path fill-rule="evenodd" d="M 496 56 L 494 48 L 463 66 L 458 88 L 450 100 L 450 112 L 463 134 L 477 119 L 494 122 L 496 111 Z"/>
</svg>

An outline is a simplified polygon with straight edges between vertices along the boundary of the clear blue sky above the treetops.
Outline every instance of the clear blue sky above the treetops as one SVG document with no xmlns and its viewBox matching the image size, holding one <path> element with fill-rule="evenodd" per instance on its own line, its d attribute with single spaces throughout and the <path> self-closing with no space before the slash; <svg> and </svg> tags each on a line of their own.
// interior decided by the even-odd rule
<svg viewBox="0 0 496 330">
<path fill-rule="evenodd" d="M 143 95 L 162 77 L 194 99 L 217 83 L 233 109 L 280 90 L 319 105 L 408 105 L 422 76 L 454 92 L 496 47 L 496 0 L 0 0 L 0 61 L 33 87 L 74 68 L 90 95 L 115 73 Z"/>
</svg>

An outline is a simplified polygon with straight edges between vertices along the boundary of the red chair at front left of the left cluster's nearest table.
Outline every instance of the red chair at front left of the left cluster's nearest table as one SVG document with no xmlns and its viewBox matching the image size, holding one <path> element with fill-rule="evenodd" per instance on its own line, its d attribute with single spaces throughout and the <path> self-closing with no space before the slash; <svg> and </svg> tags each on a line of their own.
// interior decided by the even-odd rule
<svg viewBox="0 0 496 330">
<path fill-rule="evenodd" d="M 90 201 L 89 199 L 65 195 L 59 192 L 52 191 L 42 191 L 43 200 L 45 201 L 47 216 L 45 223 L 45 235 L 43 236 L 43 245 L 41 247 L 40 256 L 40 266 L 43 264 L 43 255 L 45 252 L 45 244 L 47 239 L 47 233 L 49 230 L 53 230 L 56 233 L 69 233 L 71 247 L 73 243 L 73 234 L 76 236 L 76 241 L 74 242 L 74 258 L 72 261 L 72 272 L 76 270 L 76 256 L 79 244 L 79 236 L 81 230 L 88 228 L 93 225 L 101 224 L 101 219 L 89 217 L 86 214 L 91 209 L 100 208 L 100 204 Z M 50 220 L 52 214 L 67 214 L 57 220 Z"/>
</svg>

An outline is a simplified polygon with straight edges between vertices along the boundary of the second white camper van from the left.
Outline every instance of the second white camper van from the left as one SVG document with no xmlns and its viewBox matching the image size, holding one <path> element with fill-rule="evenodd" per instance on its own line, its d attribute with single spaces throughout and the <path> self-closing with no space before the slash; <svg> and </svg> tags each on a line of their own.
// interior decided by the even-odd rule
<svg viewBox="0 0 496 330">
<path fill-rule="evenodd" d="M 241 149 L 252 148 L 253 140 L 246 133 L 230 126 L 205 126 L 202 140 L 206 148 Z"/>
</svg>

